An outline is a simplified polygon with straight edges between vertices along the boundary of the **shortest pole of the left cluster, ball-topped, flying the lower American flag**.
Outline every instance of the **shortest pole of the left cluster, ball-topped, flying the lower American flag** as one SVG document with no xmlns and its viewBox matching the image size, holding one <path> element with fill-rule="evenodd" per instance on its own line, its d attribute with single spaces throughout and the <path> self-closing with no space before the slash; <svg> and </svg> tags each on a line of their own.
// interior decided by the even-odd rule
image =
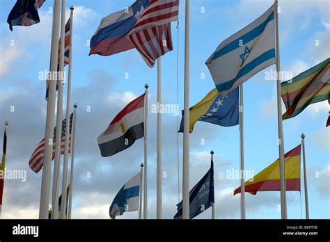
<svg viewBox="0 0 330 242">
<path fill-rule="evenodd" d="M 72 190 L 73 190 L 73 178 L 74 178 L 74 146 L 76 144 L 76 120 L 77 120 L 77 104 L 74 104 L 73 109 L 73 130 L 72 130 L 72 142 L 71 142 L 71 168 L 70 168 L 70 187 L 69 187 L 69 207 L 68 207 L 68 219 L 71 219 L 72 211 Z"/>
</svg>

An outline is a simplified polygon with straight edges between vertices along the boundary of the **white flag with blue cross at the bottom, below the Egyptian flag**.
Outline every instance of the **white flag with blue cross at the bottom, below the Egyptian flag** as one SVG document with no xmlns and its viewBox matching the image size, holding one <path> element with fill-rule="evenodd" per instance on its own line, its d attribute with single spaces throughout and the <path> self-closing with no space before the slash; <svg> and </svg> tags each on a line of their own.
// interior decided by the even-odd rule
<svg viewBox="0 0 330 242">
<path fill-rule="evenodd" d="M 122 215 L 125 211 L 139 210 L 140 177 L 141 172 L 134 175 L 120 188 L 109 209 L 111 219 L 115 219 L 116 216 Z"/>
</svg>

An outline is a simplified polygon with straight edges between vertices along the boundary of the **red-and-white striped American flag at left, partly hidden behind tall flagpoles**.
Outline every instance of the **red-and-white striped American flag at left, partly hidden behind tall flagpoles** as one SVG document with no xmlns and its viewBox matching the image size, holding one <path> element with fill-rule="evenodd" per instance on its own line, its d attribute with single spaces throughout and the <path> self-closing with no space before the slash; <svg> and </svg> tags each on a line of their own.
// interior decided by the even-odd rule
<svg viewBox="0 0 330 242">
<path fill-rule="evenodd" d="M 73 113 L 70 115 L 70 128 L 69 128 L 69 152 L 71 147 L 71 127 L 72 127 L 72 117 Z M 61 154 L 64 154 L 64 145 L 65 145 L 65 126 L 66 126 L 66 118 L 62 121 L 62 134 L 61 134 Z M 56 143 L 56 127 L 54 127 L 54 138 L 53 138 L 53 157 L 55 156 L 55 143 Z M 44 162 L 44 152 L 45 152 L 45 138 L 43 138 L 38 144 L 36 150 L 34 150 L 31 155 L 29 166 L 30 168 L 38 173 Z"/>
</svg>

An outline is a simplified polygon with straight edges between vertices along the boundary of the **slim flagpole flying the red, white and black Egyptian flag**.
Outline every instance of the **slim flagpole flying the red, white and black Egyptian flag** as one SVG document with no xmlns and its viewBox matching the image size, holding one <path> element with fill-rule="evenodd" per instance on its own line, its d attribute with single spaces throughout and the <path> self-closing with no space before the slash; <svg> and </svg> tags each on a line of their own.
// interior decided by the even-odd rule
<svg viewBox="0 0 330 242">
<path fill-rule="evenodd" d="M 144 191 L 143 191 L 143 218 L 148 219 L 148 88 L 146 88 L 144 104 Z"/>
</svg>

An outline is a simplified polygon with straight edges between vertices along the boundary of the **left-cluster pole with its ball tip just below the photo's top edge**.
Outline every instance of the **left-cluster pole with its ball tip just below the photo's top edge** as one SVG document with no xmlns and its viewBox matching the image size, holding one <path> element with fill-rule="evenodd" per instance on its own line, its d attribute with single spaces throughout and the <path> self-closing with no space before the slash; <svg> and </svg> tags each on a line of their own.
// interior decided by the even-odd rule
<svg viewBox="0 0 330 242">
<path fill-rule="evenodd" d="M 70 11 L 70 54 L 69 54 L 69 73 L 68 73 L 68 95 L 66 98 L 65 145 L 64 145 L 63 179 L 62 179 L 62 203 L 61 203 L 62 219 L 65 219 L 65 210 L 66 210 L 65 208 L 67 207 L 66 190 L 67 190 L 67 182 L 68 182 L 69 133 L 70 133 L 72 35 L 73 35 L 72 20 L 73 20 L 73 10 L 74 10 L 73 6 L 70 7 L 70 10 L 71 10 Z"/>
</svg>

